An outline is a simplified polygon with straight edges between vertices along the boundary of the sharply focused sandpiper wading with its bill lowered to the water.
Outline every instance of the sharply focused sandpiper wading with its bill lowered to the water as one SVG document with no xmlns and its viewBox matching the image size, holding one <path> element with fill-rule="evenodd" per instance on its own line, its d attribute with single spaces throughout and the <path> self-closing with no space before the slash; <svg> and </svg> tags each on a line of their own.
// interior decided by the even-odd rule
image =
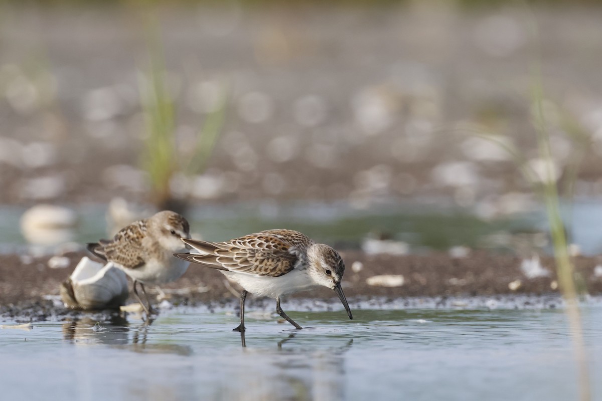
<svg viewBox="0 0 602 401">
<path fill-rule="evenodd" d="M 208 268 L 219 269 L 241 287 L 240 325 L 244 332 L 244 300 L 247 293 L 276 299 L 276 312 L 291 325 L 297 323 L 280 307 L 283 295 L 324 286 L 333 289 L 353 319 L 341 288 L 345 271 L 343 259 L 334 249 L 315 243 L 293 230 L 266 230 L 225 242 L 182 239 L 200 254 L 176 253 L 174 256 Z"/>
</svg>

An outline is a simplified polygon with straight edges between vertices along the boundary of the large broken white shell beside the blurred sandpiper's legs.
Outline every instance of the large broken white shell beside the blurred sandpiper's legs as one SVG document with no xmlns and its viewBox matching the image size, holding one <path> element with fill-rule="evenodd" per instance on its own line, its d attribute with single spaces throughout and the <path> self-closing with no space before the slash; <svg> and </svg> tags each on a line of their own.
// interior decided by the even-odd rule
<svg viewBox="0 0 602 401">
<path fill-rule="evenodd" d="M 128 299 L 128 278 L 113 263 L 82 257 L 70 277 L 61 284 L 66 307 L 83 310 L 119 308 Z"/>
</svg>

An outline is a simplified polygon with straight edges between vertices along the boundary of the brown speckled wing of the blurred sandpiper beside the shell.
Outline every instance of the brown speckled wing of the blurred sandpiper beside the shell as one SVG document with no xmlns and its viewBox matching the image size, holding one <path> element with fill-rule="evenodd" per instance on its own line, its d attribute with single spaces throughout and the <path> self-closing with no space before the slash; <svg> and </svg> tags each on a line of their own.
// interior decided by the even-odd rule
<svg viewBox="0 0 602 401">
<path fill-rule="evenodd" d="M 113 240 L 101 240 L 98 245 L 88 245 L 96 256 L 102 257 L 108 262 L 114 262 L 128 269 L 139 268 L 145 263 L 145 253 L 142 247 L 142 239 L 146 236 L 146 220 L 133 222 L 122 228 Z"/>
</svg>

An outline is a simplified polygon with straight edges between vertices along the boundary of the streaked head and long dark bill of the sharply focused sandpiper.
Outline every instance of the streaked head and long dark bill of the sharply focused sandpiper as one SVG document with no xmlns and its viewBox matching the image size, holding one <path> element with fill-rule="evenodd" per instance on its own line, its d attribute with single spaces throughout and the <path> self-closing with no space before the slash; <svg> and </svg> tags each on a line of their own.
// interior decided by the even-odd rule
<svg viewBox="0 0 602 401">
<path fill-rule="evenodd" d="M 315 284 L 334 290 L 339 299 L 341 299 L 341 302 L 343 302 L 349 319 L 353 319 L 349 304 L 347 304 L 347 299 L 343 293 L 343 288 L 341 288 L 341 280 L 343 280 L 345 272 L 345 263 L 341 256 L 333 248 L 323 243 L 314 243 L 314 245 L 311 245 L 307 256 L 309 277 L 311 277 Z"/>
</svg>

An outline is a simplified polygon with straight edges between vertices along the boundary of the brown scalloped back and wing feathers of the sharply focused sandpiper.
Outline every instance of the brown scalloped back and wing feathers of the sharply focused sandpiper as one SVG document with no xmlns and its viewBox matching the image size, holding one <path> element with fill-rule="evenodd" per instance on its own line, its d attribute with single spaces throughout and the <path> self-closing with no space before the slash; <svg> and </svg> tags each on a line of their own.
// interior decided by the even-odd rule
<svg viewBox="0 0 602 401">
<path fill-rule="evenodd" d="M 306 266 L 306 251 L 314 243 L 293 230 L 265 230 L 225 242 L 185 240 L 202 254 L 179 254 L 209 268 L 279 277 Z"/>
</svg>

